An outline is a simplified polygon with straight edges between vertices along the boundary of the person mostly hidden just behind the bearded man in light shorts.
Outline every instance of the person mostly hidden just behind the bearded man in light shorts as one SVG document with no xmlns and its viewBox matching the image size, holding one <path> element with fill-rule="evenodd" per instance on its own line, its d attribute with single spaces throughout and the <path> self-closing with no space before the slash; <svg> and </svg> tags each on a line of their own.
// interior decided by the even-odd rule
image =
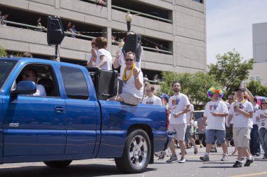
<svg viewBox="0 0 267 177">
<path fill-rule="evenodd" d="M 193 120 L 194 115 L 194 106 L 193 104 L 190 104 L 190 111 L 186 113 L 186 131 L 185 131 L 185 142 L 187 143 L 187 146 L 189 146 L 190 143 L 194 146 L 194 154 L 197 154 L 197 146 L 195 145 L 195 139 L 193 139 L 193 133 L 194 133 L 194 121 Z M 188 141 L 189 140 L 189 141 Z"/>
</svg>

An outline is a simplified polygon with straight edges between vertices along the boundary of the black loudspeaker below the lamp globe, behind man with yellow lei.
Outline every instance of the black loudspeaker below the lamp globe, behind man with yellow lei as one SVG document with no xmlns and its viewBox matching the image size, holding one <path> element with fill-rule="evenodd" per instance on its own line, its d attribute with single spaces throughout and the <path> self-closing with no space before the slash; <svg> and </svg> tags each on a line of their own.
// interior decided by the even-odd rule
<svg viewBox="0 0 267 177">
<path fill-rule="evenodd" d="M 136 54 L 136 62 L 140 61 L 141 57 L 141 35 L 140 34 L 129 34 L 126 36 L 126 40 L 124 46 L 122 48 L 122 52 L 124 56 L 126 52 L 134 52 Z"/>
</svg>

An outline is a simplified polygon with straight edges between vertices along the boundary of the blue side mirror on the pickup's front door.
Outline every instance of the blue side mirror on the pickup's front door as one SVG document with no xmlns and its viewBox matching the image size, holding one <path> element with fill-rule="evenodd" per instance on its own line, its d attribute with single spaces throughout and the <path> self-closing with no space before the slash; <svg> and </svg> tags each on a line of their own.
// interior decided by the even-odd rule
<svg viewBox="0 0 267 177">
<path fill-rule="evenodd" d="M 34 94 L 37 91 L 36 85 L 32 81 L 20 81 L 15 90 L 11 90 L 11 95 Z"/>
</svg>

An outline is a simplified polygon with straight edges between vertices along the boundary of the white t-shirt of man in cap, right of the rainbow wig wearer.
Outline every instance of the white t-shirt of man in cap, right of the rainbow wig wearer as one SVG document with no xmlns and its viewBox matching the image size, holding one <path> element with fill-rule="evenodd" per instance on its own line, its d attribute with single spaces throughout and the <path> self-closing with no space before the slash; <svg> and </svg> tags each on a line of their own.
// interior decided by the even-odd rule
<svg viewBox="0 0 267 177">
<path fill-rule="evenodd" d="M 233 115 L 233 127 L 253 127 L 252 118 L 247 118 L 242 113 L 236 113 L 235 108 L 241 108 L 243 111 L 253 112 L 253 106 L 249 101 L 244 101 L 243 103 L 235 101 L 229 110 L 229 114 Z"/>
</svg>

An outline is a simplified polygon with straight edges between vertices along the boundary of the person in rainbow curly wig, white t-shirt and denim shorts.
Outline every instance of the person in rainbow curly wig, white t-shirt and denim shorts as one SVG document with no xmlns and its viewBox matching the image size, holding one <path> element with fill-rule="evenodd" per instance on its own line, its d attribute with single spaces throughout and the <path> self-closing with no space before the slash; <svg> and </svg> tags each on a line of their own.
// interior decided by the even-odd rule
<svg viewBox="0 0 267 177">
<path fill-rule="evenodd" d="M 228 109 L 226 104 L 221 101 L 223 97 L 223 91 L 219 87 L 211 87 L 208 90 L 208 96 L 211 97 L 211 101 L 206 104 L 202 129 L 204 129 L 206 121 L 209 123 L 206 127 L 206 153 L 200 157 L 202 161 L 209 161 L 209 153 L 211 152 L 212 143 L 216 141 L 221 144 L 223 148 L 223 157 L 221 161 L 228 160 L 227 146 L 226 146 L 226 120 L 228 116 Z"/>
</svg>

